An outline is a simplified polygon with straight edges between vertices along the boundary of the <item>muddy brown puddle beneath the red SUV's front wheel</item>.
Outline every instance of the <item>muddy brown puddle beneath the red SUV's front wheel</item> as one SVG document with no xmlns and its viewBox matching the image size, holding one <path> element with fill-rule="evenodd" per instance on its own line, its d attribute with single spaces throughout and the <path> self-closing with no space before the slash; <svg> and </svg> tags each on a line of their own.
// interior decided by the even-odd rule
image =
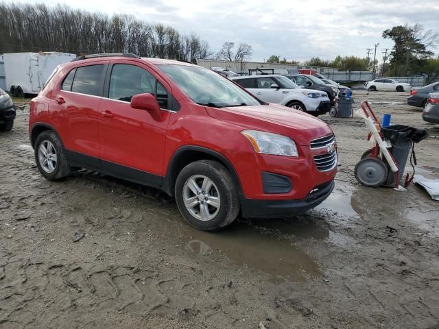
<svg viewBox="0 0 439 329">
<path fill-rule="evenodd" d="M 237 219 L 220 232 L 204 232 L 183 222 L 175 204 L 167 206 L 168 220 L 154 221 L 152 232 L 169 232 L 178 245 L 198 256 L 213 252 L 224 256 L 231 264 L 263 271 L 273 276 L 274 282 L 305 281 L 319 278 L 318 264 L 295 245 L 300 239 L 324 239 L 329 230 L 305 219 Z M 165 227 L 163 227 L 165 226 Z"/>
</svg>

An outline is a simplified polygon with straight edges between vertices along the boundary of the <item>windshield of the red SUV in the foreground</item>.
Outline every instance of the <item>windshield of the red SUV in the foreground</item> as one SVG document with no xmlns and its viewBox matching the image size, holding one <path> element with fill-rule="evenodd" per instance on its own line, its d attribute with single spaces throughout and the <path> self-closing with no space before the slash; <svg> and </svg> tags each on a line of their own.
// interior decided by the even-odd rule
<svg viewBox="0 0 439 329">
<path fill-rule="evenodd" d="M 215 108 L 261 105 L 230 80 L 199 66 L 167 65 L 158 67 L 195 103 Z"/>
</svg>

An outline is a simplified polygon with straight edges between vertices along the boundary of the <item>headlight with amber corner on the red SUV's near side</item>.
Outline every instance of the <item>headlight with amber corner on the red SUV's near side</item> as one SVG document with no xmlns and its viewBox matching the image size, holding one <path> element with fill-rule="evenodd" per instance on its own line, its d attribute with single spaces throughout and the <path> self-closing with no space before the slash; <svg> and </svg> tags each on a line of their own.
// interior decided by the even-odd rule
<svg viewBox="0 0 439 329">
<path fill-rule="evenodd" d="M 274 154 L 276 156 L 299 156 L 296 143 L 287 136 L 257 130 L 244 130 L 241 134 L 248 138 L 257 153 Z"/>
</svg>

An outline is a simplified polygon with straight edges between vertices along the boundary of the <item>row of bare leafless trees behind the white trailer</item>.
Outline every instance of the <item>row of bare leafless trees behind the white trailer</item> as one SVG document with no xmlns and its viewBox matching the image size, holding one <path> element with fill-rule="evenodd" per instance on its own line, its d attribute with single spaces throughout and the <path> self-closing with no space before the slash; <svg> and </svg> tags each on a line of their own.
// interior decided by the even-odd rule
<svg viewBox="0 0 439 329">
<path fill-rule="evenodd" d="M 195 62 L 209 54 L 209 44 L 196 34 L 185 36 L 173 27 L 134 16 L 0 0 L 0 53 L 14 51 L 78 55 L 120 51 Z"/>
</svg>

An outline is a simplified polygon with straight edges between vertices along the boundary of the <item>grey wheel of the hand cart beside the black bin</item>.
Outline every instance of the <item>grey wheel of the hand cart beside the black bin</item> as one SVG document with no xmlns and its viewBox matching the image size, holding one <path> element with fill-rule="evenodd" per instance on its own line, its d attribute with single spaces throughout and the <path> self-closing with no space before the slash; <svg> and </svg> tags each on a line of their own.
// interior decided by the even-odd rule
<svg viewBox="0 0 439 329">
<path fill-rule="evenodd" d="M 378 187 L 387 180 L 389 169 L 377 158 L 364 158 L 355 165 L 355 178 L 364 186 Z"/>
</svg>

